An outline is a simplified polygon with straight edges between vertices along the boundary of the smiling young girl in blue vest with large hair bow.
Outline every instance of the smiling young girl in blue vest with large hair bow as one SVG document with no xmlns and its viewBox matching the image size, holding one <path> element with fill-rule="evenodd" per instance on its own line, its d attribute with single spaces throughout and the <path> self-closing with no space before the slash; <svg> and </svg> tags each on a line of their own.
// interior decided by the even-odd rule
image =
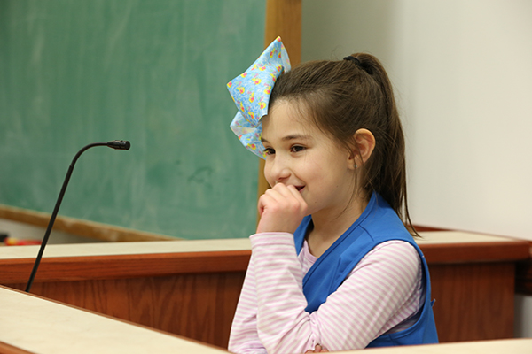
<svg viewBox="0 0 532 354">
<path fill-rule="evenodd" d="M 258 202 L 229 350 L 437 342 L 426 260 L 404 227 L 411 220 L 403 130 L 384 68 L 353 54 L 288 71 L 282 44 L 263 56 L 267 63 L 230 83 L 252 104 L 269 103 L 267 115 L 251 119 L 253 108 L 230 88 L 240 108 L 233 130 L 260 139 L 246 143 L 263 151 L 271 189 Z M 264 84 L 261 71 L 272 79 L 270 95 L 246 86 Z"/>
</svg>

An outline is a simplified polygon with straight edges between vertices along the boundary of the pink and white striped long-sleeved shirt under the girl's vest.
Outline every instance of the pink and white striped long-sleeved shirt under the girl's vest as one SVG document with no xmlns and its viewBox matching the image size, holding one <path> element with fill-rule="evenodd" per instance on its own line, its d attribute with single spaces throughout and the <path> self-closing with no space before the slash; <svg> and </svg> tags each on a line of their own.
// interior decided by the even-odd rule
<svg viewBox="0 0 532 354">
<path fill-rule="evenodd" d="M 418 252 L 403 241 L 383 242 L 356 265 L 316 312 L 305 312 L 302 279 L 317 258 L 293 235 L 250 237 L 252 257 L 231 327 L 235 353 L 304 353 L 365 348 L 379 335 L 416 321 L 424 301 Z"/>
</svg>

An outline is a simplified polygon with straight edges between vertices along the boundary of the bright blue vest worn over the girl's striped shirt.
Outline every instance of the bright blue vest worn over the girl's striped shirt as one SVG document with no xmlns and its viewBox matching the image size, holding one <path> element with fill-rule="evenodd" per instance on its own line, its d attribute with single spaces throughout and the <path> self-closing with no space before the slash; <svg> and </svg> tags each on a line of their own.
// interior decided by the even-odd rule
<svg viewBox="0 0 532 354">
<path fill-rule="evenodd" d="M 311 216 L 305 217 L 293 235 L 298 254 L 311 221 Z M 413 326 L 400 332 L 380 335 L 370 342 L 368 347 L 436 343 L 438 335 L 432 310 L 434 301 L 430 301 L 430 277 L 426 259 L 401 219 L 377 193 L 373 193 L 370 203 L 356 222 L 317 258 L 303 278 L 303 293 L 308 304 L 306 311 L 315 312 L 325 303 L 327 296 L 338 289 L 360 259 L 379 243 L 390 240 L 409 242 L 418 251 L 423 263 L 425 304 Z"/>
</svg>

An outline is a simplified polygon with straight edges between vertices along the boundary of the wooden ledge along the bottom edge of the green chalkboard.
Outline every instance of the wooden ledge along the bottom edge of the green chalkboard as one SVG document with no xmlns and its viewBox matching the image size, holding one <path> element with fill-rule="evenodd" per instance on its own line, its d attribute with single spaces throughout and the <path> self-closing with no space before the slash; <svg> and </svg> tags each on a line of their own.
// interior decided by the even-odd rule
<svg viewBox="0 0 532 354">
<path fill-rule="evenodd" d="M 0 204 L 0 219 L 8 219 L 35 227 L 46 228 L 48 227 L 50 217 L 51 214 L 47 212 L 35 212 Z M 176 237 L 158 235 L 126 227 L 116 227 L 94 221 L 68 218 L 66 216 L 58 216 L 53 224 L 53 229 L 107 242 L 169 241 L 178 239 Z"/>
</svg>

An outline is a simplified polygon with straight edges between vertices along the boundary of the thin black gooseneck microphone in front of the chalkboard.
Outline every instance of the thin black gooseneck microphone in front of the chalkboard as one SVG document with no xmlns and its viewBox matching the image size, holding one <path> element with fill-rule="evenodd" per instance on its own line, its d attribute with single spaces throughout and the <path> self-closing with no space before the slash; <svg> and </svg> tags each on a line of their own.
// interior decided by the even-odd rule
<svg viewBox="0 0 532 354">
<path fill-rule="evenodd" d="M 27 281 L 27 286 L 26 286 L 27 293 L 29 292 L 29 289 L 31 289 L 31 286 L 35 279 L 35 274 L 37 273 L 37 269 L 39 268 L 39 264 L 41 263 L 41 258 L 43 258 L 44 248 L 46 247 L 46 243 L 48 242 L 48 239 L 50 238 L 50 233 L 51 233 L 51 228 L 53 227 L 53 223 L 55 222 L 55 219 L 58 216 L 59 206 L 61 206 L 61 202 L 63 201 L 63 196 L 65 196 L 66 186 L 68 185 L 68 181 L 70 181 L 70 176 L 72 175 L 72 171 L 74 170 L 75 162 L 85 150 L 88 150 L 95 146 L 108 146 L 115 150 L 129 150 L 129 148 L 131 147 L 131 144 L 125 140 L 114 140 L 112 142 L 93 142 L 93 143 L 90 143 L 89 145 L 84 146 L 82 150 L 79 150 L 78 153 L 75 154 L 74 159 L 72 160 L 72 163 L 70 164 L 70 166 L 68 167 L 68 171 L 66 172 L 65 181 L 63 182 L 63 187 L 61 188 L 61 191 L 59 192 L 58 201 L 56 202 L 56 205 L 53 208 L 53 212 L 51 213 L 50 222 L 48 223 L 48 227 L 46 228 L 46 233 L 44 234 L 43 242 L 41 243 L 41 248 L 39 249 L 37 258 L 35 258 L 35 264 L 34 264 L 33 270 L 31 271 L 31 275 L 29 276 L 29 281 Z"/>
</svg>

